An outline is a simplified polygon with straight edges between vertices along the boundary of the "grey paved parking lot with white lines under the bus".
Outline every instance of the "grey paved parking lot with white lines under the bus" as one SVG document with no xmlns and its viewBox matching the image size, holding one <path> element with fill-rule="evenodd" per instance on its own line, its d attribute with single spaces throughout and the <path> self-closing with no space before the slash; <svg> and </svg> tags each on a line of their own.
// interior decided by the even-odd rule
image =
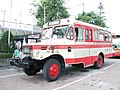
<svg viewBox="0 0 120 90">
<path fill-rule="evenodd" d="M 67 66 L 60 78 L 47 82 L 42 71 L 27 76 L 20 68 L 0 70 L 0 90 L 120 90 L 120 59 L 106 59 L 101 69 Z"/>
</svg>

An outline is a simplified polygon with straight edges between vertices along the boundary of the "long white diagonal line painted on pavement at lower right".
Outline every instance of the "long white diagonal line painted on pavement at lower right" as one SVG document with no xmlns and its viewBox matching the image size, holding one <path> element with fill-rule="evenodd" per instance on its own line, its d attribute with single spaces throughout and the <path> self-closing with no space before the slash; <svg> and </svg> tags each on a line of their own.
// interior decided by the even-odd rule
<svg viewBox="0 0 120 90">
<path fill-rule="evenodd" d="M 76 80 L 76 81 L 73 81 L 73 82 L 71 82 L 71 83 L 67 83 L 67 84 L 65 84 L 65 85 L 63 85 L 63 86 L 60 86 L 60 87 L 57 87 L 57 88 L 55 88 L 55 89 L 53 89 L 53 90 L 60 90 L 60 89 L 63 89 L 63 88 L 65 88 L 65 87 L 67 87 L 67 86 L 70 86 L 70 85 L 72 85 L 72 84 L 74 84 L 74 83 L 80 82 L 80 81 L 82 81 L 82 80 L 84 80 L 84 79 L 86 79 L 86 78 L 88 78 L 88 77 L 90 77 L 90 76 L 92 76 L 92 75 L 95 75 L 95 74 L 100 73 L 100 72 L 102 72 L 102 71 L 104 71 L 104 70 L 106 70 L 106 69 L 109 69 L 109 68 L 115 66 L 116 64 L 118 64 L 118 63 L 112 64 L 112 65 L 110 65 L 110 66 L 108 66 L 108 67 L 105 67 L 105 68 L 103 68 L 102 70 L 99 70 L 99 71 L 97 71 L 97 72 L 95 72 L 95 73 L 93 73 L 93 74 L 89 74 L 89 75 L 87 75 L 86 77 L 83 77 L 83 78 L 78 79 L 78 80 Z"/>
</svg>

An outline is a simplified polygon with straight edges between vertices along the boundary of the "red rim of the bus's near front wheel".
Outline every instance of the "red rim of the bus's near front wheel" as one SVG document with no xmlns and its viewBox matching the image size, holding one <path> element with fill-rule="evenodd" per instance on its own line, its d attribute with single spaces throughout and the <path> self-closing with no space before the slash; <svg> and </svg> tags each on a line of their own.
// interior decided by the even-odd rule
<svg viewBox="0 0 120 90">
<path fill-rule="evenodd" d="M 49 74 L 52 78 L 56 78 L 59 72 L 59 66 L 58 64 L 52 64 L 50 66 Z"/>
</svg>

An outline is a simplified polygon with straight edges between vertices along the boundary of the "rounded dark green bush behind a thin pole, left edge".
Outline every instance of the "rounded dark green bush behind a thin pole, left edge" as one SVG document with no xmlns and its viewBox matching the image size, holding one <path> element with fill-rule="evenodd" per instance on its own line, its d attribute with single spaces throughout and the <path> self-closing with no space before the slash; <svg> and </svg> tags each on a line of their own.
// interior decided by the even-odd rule
<svg viewBox="0 0 120 90">
<path fill-rule="evenodd" d="M 14 37 L 12 33 L 10 32 L 10 46 L 8 45 L 8 33 L 9 31 L 6 31 L 0 40 L 0 52 L 4 53 L 12 53 L 15 48 L 14 44 Z"/>
</svg>

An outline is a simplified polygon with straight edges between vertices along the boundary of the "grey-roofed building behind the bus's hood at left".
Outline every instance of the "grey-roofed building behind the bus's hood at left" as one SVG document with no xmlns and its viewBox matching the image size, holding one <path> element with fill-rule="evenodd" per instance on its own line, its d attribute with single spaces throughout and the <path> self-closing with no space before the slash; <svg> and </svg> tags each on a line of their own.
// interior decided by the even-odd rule
<svg viewBox="0 0 120 90">
<path fill-rule="evenodd" d="M 8 31 L 9 28 L 2 28 L 0 27 L 0 38 L 2 37 L 2 35 L 4 34 L 4 32 Z M 28 38 L 33 38 L 32 36 L 37 36 L 34 39 L 36 41 L 38 41 L 41 37 L 41 32 L 42 29 L 39 27 L 34 26 L 33 30 L 22 30 L 22 29 L 14 29 L 14 28 L 10 28 L 11 33 L 14 36 L 14 41 L 21 42 L 21 45 L 23 43 L 23 39 L 26 38 L 26 42 L 28 42 Z"/>
</svg>

